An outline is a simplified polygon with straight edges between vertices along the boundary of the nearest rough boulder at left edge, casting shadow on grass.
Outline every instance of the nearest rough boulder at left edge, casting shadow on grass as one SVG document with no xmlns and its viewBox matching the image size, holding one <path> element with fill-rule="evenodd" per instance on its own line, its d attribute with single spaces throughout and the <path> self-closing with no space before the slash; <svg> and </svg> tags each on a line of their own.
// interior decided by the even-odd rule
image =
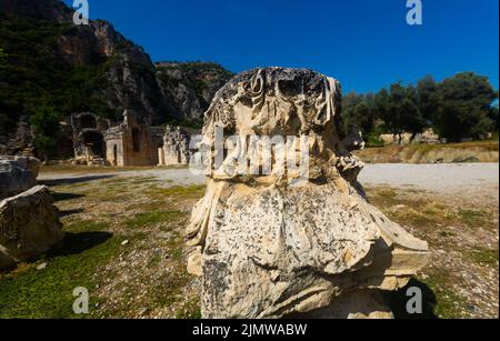
<svg viewBox="0 0 500 341">
<path fill-rule="evenodd" d="M 0 269 L 34 258 L 63 239 L 49 189 L 33 187 L 0 202 Z"/>
</svg>

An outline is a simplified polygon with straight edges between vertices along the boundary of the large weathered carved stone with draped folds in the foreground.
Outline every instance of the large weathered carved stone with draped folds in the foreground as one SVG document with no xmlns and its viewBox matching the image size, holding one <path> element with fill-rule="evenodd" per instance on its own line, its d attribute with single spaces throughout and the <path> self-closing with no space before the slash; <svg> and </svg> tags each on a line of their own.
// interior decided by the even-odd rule
<svg viewBox="0 0 500 341">
<path fill-rule="evenodd" d="M 217 93 L 206 113 L 207 151 L 217 127 L 243 140 L 300 137 L 309 177 L 293 185 L 298 175 L 274 164 L 266 175 L 228 171 L 236 157 L 250 157 L 246 148 L 207 170 L 187 231 L 204 318 L 391 318 L 379 290 L 404 287 L 429 261 L 427 242 L 367 201 L 357 180 L 363 164 L 350 154 L 362 143 L 340 132 L 340 102 L 334 79 L 282 68 L 240 73 Z M 293 150 L 274 148 L 271 160 Z"/>
</svg>

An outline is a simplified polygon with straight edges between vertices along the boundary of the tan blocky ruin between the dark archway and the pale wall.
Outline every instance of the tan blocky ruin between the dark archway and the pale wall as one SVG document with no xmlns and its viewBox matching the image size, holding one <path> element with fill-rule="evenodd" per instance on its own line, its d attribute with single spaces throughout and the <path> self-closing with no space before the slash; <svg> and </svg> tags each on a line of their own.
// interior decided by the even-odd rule
<svg viewBox="0 0 500 341">
<path fill-rule="evenodd" d="M 157 166 L 158 149 L 162 146 L 161 128 L 139 122 L 126 110 L 123 123 L 106 131 L 106 159 L 111 166 Z"/>
</svg>

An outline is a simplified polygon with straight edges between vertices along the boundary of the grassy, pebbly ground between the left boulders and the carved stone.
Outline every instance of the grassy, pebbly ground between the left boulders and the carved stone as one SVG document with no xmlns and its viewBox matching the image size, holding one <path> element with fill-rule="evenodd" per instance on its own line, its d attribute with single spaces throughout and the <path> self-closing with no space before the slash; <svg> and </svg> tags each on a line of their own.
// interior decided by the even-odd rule
<svg viewBox="0 0 500 341">
<path fill-rule="evenodd" d="M 182 230 L 204 187 L 164 184 L 114 178 L 54 185 L 64 245 L 0 273 L 0 318 L 199 317 Z M 89 315 L 72 312 L 76 287 L 89 290 Z"/>
</svg>

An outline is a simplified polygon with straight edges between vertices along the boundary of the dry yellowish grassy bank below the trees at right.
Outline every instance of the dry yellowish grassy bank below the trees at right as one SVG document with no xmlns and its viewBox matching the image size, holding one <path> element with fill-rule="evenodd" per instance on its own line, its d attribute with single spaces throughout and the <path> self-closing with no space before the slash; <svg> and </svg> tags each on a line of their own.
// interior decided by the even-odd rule
<svg viewBox="0 0 500 341">
<path fill-rule="evenodd" d="M 368 163 L 498 162 L 498 141 L 367 148 L 356 154 Z"/>
</svg>

